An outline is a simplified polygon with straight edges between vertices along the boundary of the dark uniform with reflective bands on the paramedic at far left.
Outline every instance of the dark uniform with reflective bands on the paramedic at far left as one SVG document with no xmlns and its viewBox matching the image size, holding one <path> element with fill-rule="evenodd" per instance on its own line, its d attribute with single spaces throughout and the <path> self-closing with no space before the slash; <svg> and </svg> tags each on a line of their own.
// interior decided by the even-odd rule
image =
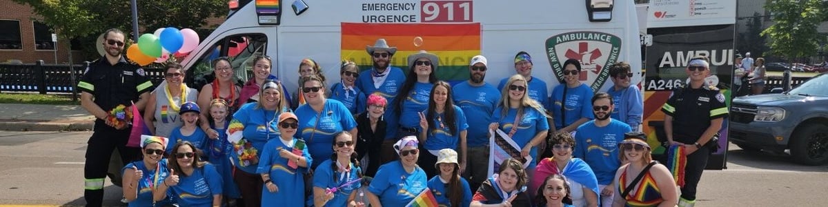
<svg viewBox="0 0 828 207">
<path fill-rule="evenodd" d="M 115 65 L 109 64 L 105 57 L 90 63 L 78 83 L 78 89 L 92 94 L 94 103 L 109 113 L 118 104 L 130 106 L 131 102 L 137 102 L 140 94 L 150 92 L 152 82 L 140 66 L 129 63 L 122 55 Z M 84 166 L 87 206 L 100 205 L 103 200 L 103 180 L 115 147 L 118 147 L 123 163 L 136 160 L 141 154 L 137 147 L 126 147 L 129 133 L 130 128 L 118 130 L 108 126 L 103 119 L 95 120 Z"/>
</svg>

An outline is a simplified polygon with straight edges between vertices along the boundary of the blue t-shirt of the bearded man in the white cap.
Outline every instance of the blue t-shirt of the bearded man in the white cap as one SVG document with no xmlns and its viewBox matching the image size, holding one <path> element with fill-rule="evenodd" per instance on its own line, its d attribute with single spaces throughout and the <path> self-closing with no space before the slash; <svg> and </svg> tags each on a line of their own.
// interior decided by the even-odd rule
<svg viewBox="0 0 828 207">
<path fill-rule="evenodd" d="M 464 81 L 456 84 L 451 94 L 469 123 L 466 145 L 483 147 L 489 144 L 489 123 L 493 122 L 492 113 L 500 100 L 500 90 L 492 84 L 472 86 L 469 81 Z"/>
</svg>

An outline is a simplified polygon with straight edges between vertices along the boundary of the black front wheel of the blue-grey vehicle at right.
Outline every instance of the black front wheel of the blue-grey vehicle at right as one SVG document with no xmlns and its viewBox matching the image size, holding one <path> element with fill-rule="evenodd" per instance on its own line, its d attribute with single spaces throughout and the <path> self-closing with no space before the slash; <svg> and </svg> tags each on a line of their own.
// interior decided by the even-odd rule
<svg viewBox="0 0 828 207">
<path fill-rule="evenodd" d="M 803 165 L 816 166 L 828 161 L 828 126 L 811 123 L 797 129 L 791 137 L 791 155 Z"/>
</svg>

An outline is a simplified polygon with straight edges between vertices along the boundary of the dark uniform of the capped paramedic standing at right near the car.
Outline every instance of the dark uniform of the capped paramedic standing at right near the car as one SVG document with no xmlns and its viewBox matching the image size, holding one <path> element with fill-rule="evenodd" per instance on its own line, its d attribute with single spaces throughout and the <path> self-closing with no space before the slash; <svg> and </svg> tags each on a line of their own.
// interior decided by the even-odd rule
<svg viewBox="0 0 828 207">
<path fill-rule="evenodd" d="M 701 135 L 710 127 L 710 121 L 728 115 L 724 104 L 724 94 L 714 86 L 703 85 L 699 89 L 679 87 L 673 91 L 670 99 L 662 106 L 662 112 L 672 116 L 673 141 L 686 144 L 698 142 Z M 701 172 L 707 166 L 711 146 L 718 143 L 713 139 L 687 156 L 685 168 L 685 185 L 681 187 L 681 200 L 691 205 L 696 200 L 696 185 L 699 184 Z"/>
</svg>

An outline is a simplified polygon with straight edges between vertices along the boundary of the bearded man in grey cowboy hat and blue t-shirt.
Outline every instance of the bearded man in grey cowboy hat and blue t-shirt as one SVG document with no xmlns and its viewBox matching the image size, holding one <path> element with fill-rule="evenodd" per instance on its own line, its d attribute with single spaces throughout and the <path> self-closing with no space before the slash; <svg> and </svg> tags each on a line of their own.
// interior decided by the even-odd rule
<svg viewBox="0 0 828 207">
<path fill-rule="evenodd" d="M 393 103 L 402 87 L 402 82 L 406 80 L 402 69 L 391 66 L 391 58 L 397 52 L 397 47 L 388 46 L 385 39 L 378 39 L 373 46 L 365 46 L 365 51 L 371 55 L 373 67 L 359 74 L 359 79 L 356 81 L 357 87 L 365 94 L 378 94 L 387 99 L 388 103 Z M 398 119 L 398 114 L 394 113 L 394 106 L 387 104 L 383 114 L 383 120 L 388 124 L 381 152 L 383 164 L 397 157 L 392 146 L 399 139 L 396 137 Z"/>
</svg>

